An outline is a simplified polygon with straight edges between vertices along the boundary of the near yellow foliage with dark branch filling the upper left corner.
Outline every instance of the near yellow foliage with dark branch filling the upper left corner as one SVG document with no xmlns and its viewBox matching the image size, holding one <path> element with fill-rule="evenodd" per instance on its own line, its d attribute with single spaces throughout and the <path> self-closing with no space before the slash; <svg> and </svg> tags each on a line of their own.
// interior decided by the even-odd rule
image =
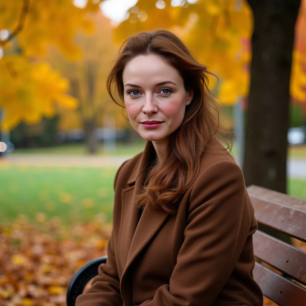
<svg viewBox="0 0 306 306">
<path fill-rule="evenodd" d="M 67 94 L 69 81 L 42 61 L 54 45 L 71 61 L 81 58 L 73 42 L 77 30 L 92 33 L 88 13 L 99 2 L 84 8 L 71 0 L 0 0 L 0 109 L 1 129 L 9 131 L 19 122 L 34 124 L 53 116 L 55 104 L 76 108 L 77 99 Z"/>
</svg>

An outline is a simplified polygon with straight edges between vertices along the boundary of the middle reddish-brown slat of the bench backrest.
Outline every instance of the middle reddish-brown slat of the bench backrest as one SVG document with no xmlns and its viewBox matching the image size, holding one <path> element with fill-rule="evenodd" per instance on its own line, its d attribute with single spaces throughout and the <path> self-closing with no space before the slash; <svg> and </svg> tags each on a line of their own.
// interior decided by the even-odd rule
<svg viewBox="0 0 306 306">
<path fill-rule="evenodd" d="M 306 253 L 266 233 L 253 235 L 254 255 L 306 285 Z"/>
</svg>

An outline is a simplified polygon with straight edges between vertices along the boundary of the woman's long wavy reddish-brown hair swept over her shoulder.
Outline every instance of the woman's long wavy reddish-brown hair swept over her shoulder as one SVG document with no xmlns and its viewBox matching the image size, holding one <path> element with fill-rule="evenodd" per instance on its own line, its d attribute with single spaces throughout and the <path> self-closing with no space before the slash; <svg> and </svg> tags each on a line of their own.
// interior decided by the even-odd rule
<svg viewBox="0 0 306 306">
<path fill-rule="evenodd" d="M 208 75 L 215 75 L 170 31 L 141 32 L 125 40 L 106 81 L 108 93 L 115 103 L 125 108 L 122 81 L 125 65 L 138 55 L 148 54 L 161 56 L 180 73 L 185 89 L 194 91 L 181 125 L 169 136 L 166 158 L 159 164 L 148 165 L 144 186 L 135 199 L 137 209 L 147 205 L 149 209 L 175 214 L 175 204 L 199 172 L 202 155 L 216 138 L 226 143 L 224 150 L 230 152 L 233 137 L 219 124 L 218 104 L 208 88 Z M 118 98 L 123 104 L 118 103 Z"/>
</svg>

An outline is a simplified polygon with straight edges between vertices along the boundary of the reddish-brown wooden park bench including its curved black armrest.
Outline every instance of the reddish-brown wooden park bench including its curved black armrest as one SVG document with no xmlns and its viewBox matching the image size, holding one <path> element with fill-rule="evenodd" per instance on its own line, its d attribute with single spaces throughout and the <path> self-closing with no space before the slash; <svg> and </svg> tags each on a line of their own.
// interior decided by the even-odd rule
<svg viewBox="0 0 306 306">
<path fill-rule="evenodd" d="M 255 185 L 247 190 L 259 224 L 306 242 L 305 200 Z M 306 306 L 306 252 L 260 230 L 253 235 L 253 244 L 253 276 L 263 295 L 280 306 Z M 93 259 L 74 274 L 67 290 L 67 306 L 74 306 L 106 258 Z"/>
</svg>

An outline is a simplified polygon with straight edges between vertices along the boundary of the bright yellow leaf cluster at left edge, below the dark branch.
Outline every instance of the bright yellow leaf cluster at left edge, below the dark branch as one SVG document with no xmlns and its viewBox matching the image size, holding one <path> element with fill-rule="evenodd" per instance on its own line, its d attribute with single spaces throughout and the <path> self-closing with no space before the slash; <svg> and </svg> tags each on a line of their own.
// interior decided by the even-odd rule
<svg viewBox="0 0 306 306">
<path fill-rule="evenodd" d="M 21 120 L 33 124 L 42 116 L 54 116 L 54 102 L 75 107 L 77 100 L 65 92 L 67 79 L 47 62 L 28 62 L 23 56 L 8 55 L 0 61 L 0 107 L 5 110 L 2 129 L 10 130 Z M 9 75 L 6 65 L 14 67 L 16 77 Z"/>
</svg>

